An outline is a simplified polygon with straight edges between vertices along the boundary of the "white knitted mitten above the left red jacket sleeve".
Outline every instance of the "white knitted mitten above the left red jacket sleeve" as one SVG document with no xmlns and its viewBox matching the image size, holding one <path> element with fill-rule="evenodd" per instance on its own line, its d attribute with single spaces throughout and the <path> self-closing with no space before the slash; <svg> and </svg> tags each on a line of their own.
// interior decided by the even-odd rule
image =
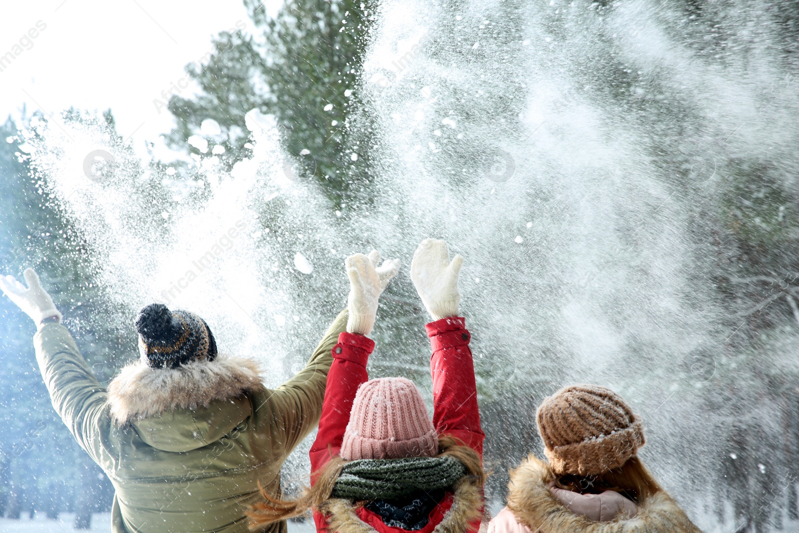
<svg viewBox="0 0 799 533">
<path fill-rule="evenodd" d="M 350 279 L 347 331 L 368 335 L 375 326 L 377 302 L 388 282 L 400 270 L 399 259 L 388 259 L 380 265 L 380 253 L 372 250 L 369 257 L 356 253 L 344 261 Z"/>
</svg>

